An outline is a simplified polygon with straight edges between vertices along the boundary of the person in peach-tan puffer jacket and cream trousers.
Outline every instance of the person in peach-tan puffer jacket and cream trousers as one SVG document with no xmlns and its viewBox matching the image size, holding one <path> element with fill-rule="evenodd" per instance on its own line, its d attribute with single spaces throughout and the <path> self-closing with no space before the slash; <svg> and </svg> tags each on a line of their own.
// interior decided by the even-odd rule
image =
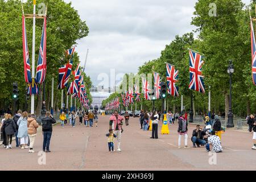
<svg viewBox="0 0 256 182">
<path fill-rule="evenodd" d="M 35 137 L 36 137 L 38 126 L 39 125 L 36 122 L 36 115 L 35 114 L 28 114 L 27 133 L 28 133 L 28 137 L 30 138 L 30 150 L 28 152 L 31 152 L 31 153 L 35 152 L 34 151 L 34 143 L 35 143 Z"/>
</svg>

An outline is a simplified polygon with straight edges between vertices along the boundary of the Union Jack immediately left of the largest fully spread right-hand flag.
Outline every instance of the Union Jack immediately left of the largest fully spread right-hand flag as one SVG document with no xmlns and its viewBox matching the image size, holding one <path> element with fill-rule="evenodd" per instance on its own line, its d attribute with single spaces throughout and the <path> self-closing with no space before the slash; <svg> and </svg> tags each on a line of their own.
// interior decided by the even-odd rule
<svg viewBox="0 0 256 182">
<path fill-rule="evenodd" d="M 179 96 L 179 87 L 175 85 L 178 81 L 178 73 L 179 71 L 175 70 L 175 67 L 171 64 L 166 64 L 166 77 L 167 77 L 167 85 L 168 85 L 168 94 L 172 96 Z"/>
</svg>

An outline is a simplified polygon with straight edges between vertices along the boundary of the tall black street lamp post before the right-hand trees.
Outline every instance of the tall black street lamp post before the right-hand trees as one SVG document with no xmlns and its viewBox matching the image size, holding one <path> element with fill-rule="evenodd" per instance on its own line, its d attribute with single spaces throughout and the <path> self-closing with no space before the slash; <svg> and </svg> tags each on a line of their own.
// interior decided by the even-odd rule
<svg viewBox="0 0 256 182">
<path fill-rule="evenodd" d="M 234 73 L 234 66 L 232 64 L 232 60 L 229 60 L 228 73 L 229 73 L 229 113 L 228 113 L 228 124 L 226 125 L 226 127 L 230 128 L 230 127 L 234 127 L 233 113 L 232 113 L 232 74 Z"/>
</svg>

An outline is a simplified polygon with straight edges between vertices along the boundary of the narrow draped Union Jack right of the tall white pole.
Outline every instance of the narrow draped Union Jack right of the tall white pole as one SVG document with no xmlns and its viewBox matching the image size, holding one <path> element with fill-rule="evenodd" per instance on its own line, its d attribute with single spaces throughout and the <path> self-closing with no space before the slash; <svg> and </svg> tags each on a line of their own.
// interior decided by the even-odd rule
<svg viewBox="0 0 256 182">
<path fill-rule="evenodd" d="M 39 48 L 38 67 L 36 68 L 36 83 L 41 84 L 46 78 L 46 16 Z"/>
</svg>

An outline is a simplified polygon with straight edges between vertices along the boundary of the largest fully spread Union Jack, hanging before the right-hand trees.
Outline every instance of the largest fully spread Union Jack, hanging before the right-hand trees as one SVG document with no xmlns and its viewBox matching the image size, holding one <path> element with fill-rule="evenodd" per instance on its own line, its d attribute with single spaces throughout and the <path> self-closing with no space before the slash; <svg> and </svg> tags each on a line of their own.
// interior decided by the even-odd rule
<svg viewBox="0 0 256 182">
<path fill-rule="evenodd" d="M 204 61 L 199 53 L 189 50 L 189 72 L 190 83 L 189 89 L 205 93 L 204 76 L 202 73 Z"/>
</svg>

